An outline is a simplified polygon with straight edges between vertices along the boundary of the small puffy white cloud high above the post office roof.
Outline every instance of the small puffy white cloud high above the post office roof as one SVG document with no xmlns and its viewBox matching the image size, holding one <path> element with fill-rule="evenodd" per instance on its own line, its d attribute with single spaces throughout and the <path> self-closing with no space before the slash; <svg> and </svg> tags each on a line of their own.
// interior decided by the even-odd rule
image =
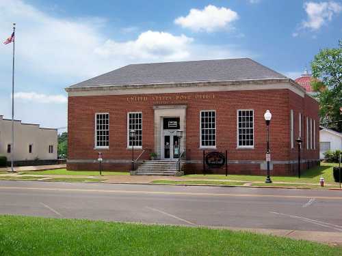
<svg viewBox="0 0 342 256">
<path fill-rule="evenodd" d="M 229 28 L 231 23 L 239 18 L 237 12 L 228 8 L 217 8 L 207 5 L 203 10 L 192 9 L 187 16 L 179 17 L 174 23 L 193 31 L 217 31 Z"/>
</svg>

